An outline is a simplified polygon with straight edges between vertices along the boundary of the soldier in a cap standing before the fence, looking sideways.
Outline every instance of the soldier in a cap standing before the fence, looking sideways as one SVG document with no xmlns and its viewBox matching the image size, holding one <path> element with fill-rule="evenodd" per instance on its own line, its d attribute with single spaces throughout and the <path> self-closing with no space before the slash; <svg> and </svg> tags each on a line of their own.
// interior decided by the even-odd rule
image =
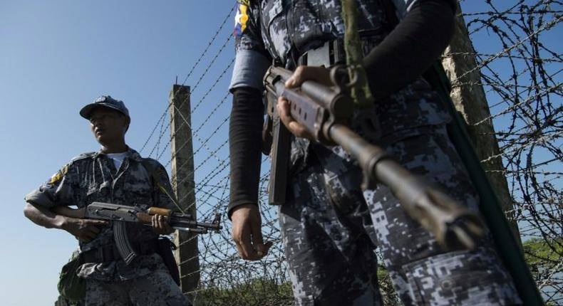
<svg viewBox="0 0 563 306">
<path fill-rule="evenodd" d="M 91 122 L 99 152 L 81 154 L 66 164 L 39 189 L 26 195 L 24 213 L 47 228 L 61 228 L 80 241 L 85 263 L 76 273 L 86 278 L 86 305 L 189 305 L 160 255 L 155 253 L 159 234 L 172 228 L 162 216 L 153 217 L 153 227 L 127 223 L 129 239 L 140 254 L 129 265 L 118 255 L 110 222 L 83 219 L 83 209 L 93 201 L 175 209 L 171 199 L 155 189 L 148 169 L 160 174 L 160 184 L 170 189 L 166 171 L 154 159 L 143 159 L 125 144 L 129 112 L 122 101 L 99 97 L 81 110 Z M 78 211 L 65 209 L 77 206 Z M 66 216 L 55 213 L 63 212 Z M 68 217 L 74 213 L 77 218 Z"/>
</svg>

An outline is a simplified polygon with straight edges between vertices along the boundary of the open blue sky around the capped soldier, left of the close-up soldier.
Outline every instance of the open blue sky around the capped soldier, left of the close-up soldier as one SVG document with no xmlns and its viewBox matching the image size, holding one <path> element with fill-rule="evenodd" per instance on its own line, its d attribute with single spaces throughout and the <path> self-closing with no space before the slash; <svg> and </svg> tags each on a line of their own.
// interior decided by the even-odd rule
<svg viewBox="0 0 563 306">
<path fill-rule="evenodd" d="M 3 305 L 52 305 L 58 272 L 76 247 L 68 233 L 35 226 L 22 209 L 26 193 L 73 156 L 98 149 L 78 110 L 99 95 L 124 100 L 132 117 L 128 144 L 141 149 L 155 127 L 160 133 L 157 123 L 175 78 L 182 83 L 233 5 L 231 0 L 0 2 Z M 202 126 L 199 137 L 210 138 L 202 150 L 219 147 L 222 157 L 230 98 L 219 102 L 227 93 L 234 54 L 232 25 L 229 18 L 186 82 L 193 89 L 192 107 L 200 104 L 193 126 Z M 163 139 L 169 135 L 164 131 Z M 157 157 L 164 149 L 160 161 L 166 164 L 170 155 L 156 138 L 141 153 Z M 212 158 L 196 172 L 196 181 L 215 167 Z"/>
</svg>

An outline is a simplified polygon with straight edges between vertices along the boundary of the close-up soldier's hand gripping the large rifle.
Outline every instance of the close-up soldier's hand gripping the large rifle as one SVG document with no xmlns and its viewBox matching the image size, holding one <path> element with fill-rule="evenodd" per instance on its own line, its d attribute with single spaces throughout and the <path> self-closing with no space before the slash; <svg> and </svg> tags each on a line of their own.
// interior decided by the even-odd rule
<svg viewBox="0 0 563 306">
<path fill-rule="evenodd" d="M 329 69 L 324 68 L 324 66 L 299 66 L 296 68 L 291 78 L 286 80 L 286 88 L 297 88 L 301 86 L 306 80 L 314 80 L 316 83 L 320 83 L 326 86 L 332 86 L 330 78 Z M 287 130 L 294 134 L 296 137 L 302 137 L 306 139 L 314 139 L 313 134 L 309 133 L 304 125 L 299 124 L 291 117 L 291 102 L 286 100 L 284 97 L 279 97 L 277 102 L 277 111 L 279 114 L 279 119 L 284 122 Z"/>
</svg>

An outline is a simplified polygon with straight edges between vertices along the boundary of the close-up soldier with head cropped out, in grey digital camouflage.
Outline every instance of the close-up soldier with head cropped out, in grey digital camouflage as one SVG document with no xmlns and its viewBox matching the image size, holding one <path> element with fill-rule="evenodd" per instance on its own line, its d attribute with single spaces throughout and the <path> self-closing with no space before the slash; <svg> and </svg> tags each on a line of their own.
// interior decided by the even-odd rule
<svg viewBox="0 0 563 306">
<path fill-rule="evenodd" d="M 351 127 L 476 211 L 478 196 L 445 129 L 451 118 L 420 77 L 448 44 L 455 1 L 391 1 L 358 0 L 363 66 L 376 102 L 355 110 Z M 271 246 L 262 240 L 257 206 L 262 77 L 272 63 L 306 64 L 305 55 L 342 39 L 344 22 L 340 1 L 332 0 L 250 0 L 237 13 L 229 218 L 242 258 L 258 260 Z M 286 86 L 306 79 L 329 82 L 326 68 L 299 66 Z M 296 137 L 279 222 L 297 305 L 381 305 L 376 247 L 406 305 L 521 303 L 490 238 L 476 250 L 445 250 L 386 186 L 361 190 L 356 160 L 341 147 L 309 142 L 288 107 L 280 98 L 280 118 Z"/>
</svg>

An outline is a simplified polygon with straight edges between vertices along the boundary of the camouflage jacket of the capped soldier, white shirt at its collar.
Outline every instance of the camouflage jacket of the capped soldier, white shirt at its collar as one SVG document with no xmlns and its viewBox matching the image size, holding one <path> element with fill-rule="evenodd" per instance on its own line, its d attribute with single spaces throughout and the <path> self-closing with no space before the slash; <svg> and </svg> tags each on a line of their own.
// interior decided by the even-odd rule
<svg viewBox="0 0 563 306">
<path fill-rule="evenodd" d="M 81 154 L 54 174 L 45 184 L 26 195 L 26 201 L 46 208 L 54 206 L 78 206 L 83 208 L 93 201 L 113 204 L 150 206 L 174 209 L 174 204 L 165 195 L 153 188 L 150 174 L 142 164 L 142 158 L 133 149 L 120 166 L 115 169 L 112 159 L 102 152 Z M 170 181 L 166 170 L 154 159 L 148 159 L 157 169 L 160 183 L 170 190 Z M 130 241 L 147 241 L 156 238 L 150 226 L 135 223 L 127 224 Z M 112 224 L 103 226 L 98 236 L 88 243 L 80 243 L 81 251 L 91 250 L 113 243 Z M 85 263 L 78 268 L 78 275 L 83 278 L 98 280 L 130 280 L 147 275 L 155 270 L 166 270 L 158 255 L 141 255 L 125 265 L 123 260 L 109 263 Z"/>
</svg>

